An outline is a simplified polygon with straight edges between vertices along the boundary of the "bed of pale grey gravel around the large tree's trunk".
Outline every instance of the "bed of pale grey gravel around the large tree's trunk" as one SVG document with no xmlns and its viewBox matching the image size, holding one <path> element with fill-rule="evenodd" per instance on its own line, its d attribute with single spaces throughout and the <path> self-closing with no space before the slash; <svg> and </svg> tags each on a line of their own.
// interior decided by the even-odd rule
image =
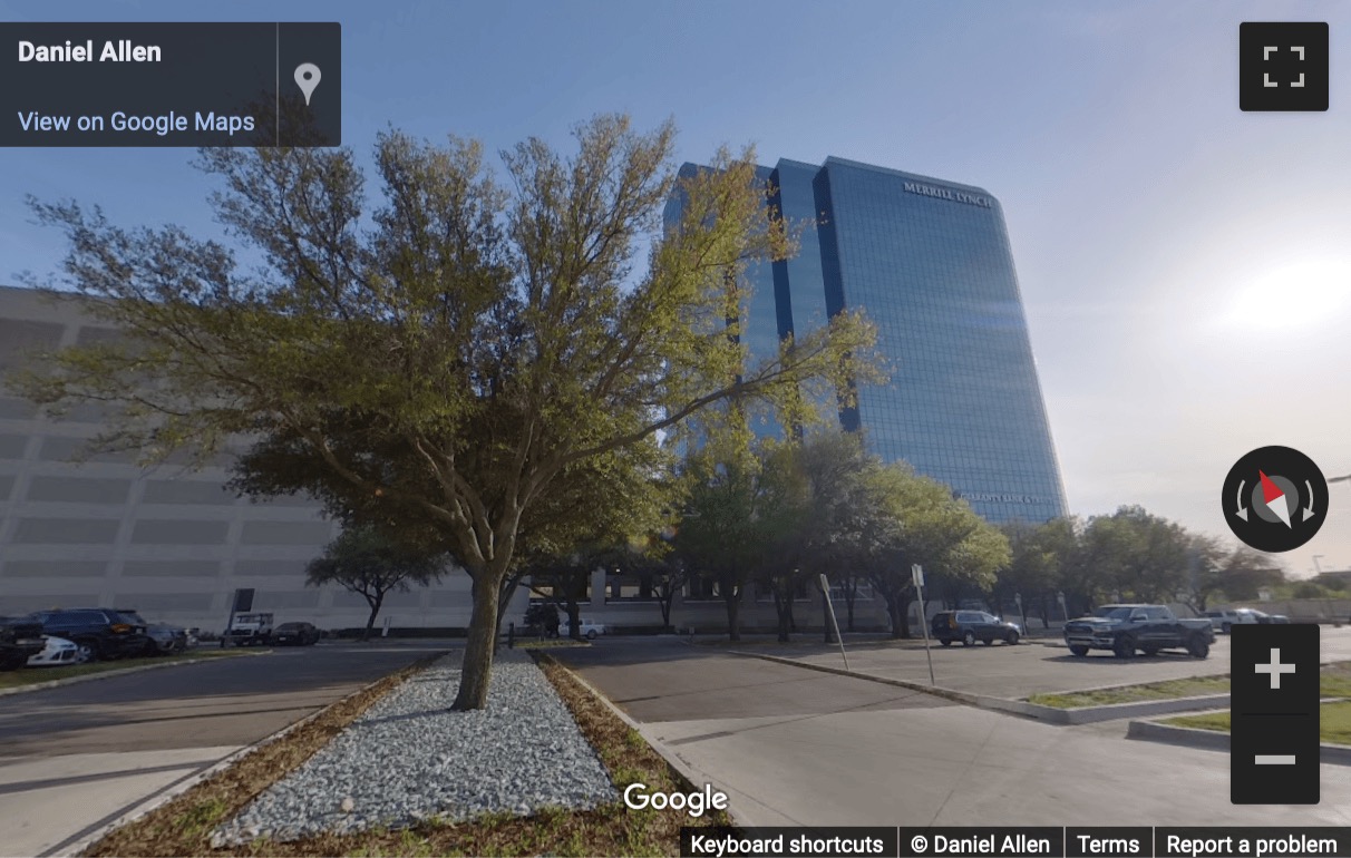
<svg viewBox="0 0 1351 858">
<path fill-rule="evenodd" d="M 451 712 L 461 653 L 377 701 L 212 834 L 292 840 L 439 816 L 592 808 L 617 797 L 558 692 L 524 653 L 493 659 L 488 707 Z"/>
</svg>

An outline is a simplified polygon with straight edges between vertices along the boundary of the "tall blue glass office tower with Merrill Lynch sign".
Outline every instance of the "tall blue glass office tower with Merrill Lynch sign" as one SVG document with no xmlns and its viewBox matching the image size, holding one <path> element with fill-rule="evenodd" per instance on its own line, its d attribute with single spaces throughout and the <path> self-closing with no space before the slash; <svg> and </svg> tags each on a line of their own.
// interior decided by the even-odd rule
<svg viewBox="0 0 1351 858">
<path fill-rule="evenodd" d="M 890 382 L 862 386 L 858 407 L 840 412 L 844 428 L 862 430 L 884 459 L 952 486 L 990 522 L 1065 515 L 998 200 L 840 158 L 780 161 L 761 176 L 769 204 L 805 228 L 800 253 L 770 266 L 773 301 L 753 273 L 748 342 L 862 308 Z"/>
</svg>

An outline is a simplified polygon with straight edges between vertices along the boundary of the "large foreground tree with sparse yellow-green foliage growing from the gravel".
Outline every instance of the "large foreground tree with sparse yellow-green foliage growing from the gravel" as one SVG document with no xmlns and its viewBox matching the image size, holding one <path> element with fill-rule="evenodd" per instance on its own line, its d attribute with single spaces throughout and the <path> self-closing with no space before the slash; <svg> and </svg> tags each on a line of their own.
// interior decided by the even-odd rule
<svg viewBox="0 0 1351 858">
<path fill-rule="evenodd" d="M 146 461 L 190 449 L 204 462 L 246 438 L 324 476 L 259 474 L 270 457 L 245 457 L 242 485 L 435 527 L 473 580 L 454 708 L 482 708 L 521 527 L 569 469 L 731 399 L 811 408 L 871 365 L 855 312 L 757 365 L 728 336 L 750 297 L 746 265 L 792 251 L 754 153 L 719 153 L 680 180 L 680 227 L 636 272 L 677 188 L 674 130 L 600 116 L 576 136 L 573 157 L 538 139 L 504 153 L 504 188 L 478 143 L 386 132 L 373 212 L 349 150 L 204 150 L 224 184 L 218 219 L 262 270 L 177 227 L 124 230 L 34 201 L 70 239 L 65 270 L 95 299 L 85 309 L 127 340 L 49 355 L 19 389 L 53 407 L 123 405 L 103 449 Z"/>
</svg>

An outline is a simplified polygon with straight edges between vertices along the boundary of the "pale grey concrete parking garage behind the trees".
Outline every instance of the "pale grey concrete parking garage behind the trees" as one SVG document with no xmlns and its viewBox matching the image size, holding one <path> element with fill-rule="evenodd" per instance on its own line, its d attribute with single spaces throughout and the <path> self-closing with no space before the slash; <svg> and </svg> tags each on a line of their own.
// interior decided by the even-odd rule
<svg viewBox="0 0 1351 858">
<path fill-rule="evenodd" d="M 51 303 L 31 289 L 0 286 L 0 377 L 30 351 L 115 336 L 74 300 Z M 317 503 L 236 497 L 224 488 L 228 455 L 200 470 L 181 463 L 146 470 L 131 454 L 72 461 L 103 419 L 97 408 L 82 407 L 53 420 L 0 389 L 0 615 L 135 608 L 153 622 L 220 631 L 234 590 L 251 588 L 253 609 L 273 612 L 277 623 L 365 626 L 367 607 L 359 596 L 305 586 L 305 565 L 339 532 Z M 531 596 L 528 588 L 517 589 L 507 622 L 523 623 Z M 611 628 L 662 624 L 661 607 L 640 581 L 597 569 L 584 599 L 582 616 Z M 839 593 L 835 608 L 843 627 Z M 457 570 L 432 586 L 390 595 L 378 623 L 463 628 L 469 613 L 469 576 Z M 823 616 L 820 593 L 804 588 L 794 605 L 798 630 L 819 631 Z M 885 604 L 867 588 L 855 616 L 859 630 L 886 628 Z M 774 630 L 773 600 L 753 588 L 743 595 L 740 622 L 747 631 Z M 721 597 L 704 584 L 686 586 L 674 600 L 671 624 L 698 634 L 725 631 Z"/>
</svg>

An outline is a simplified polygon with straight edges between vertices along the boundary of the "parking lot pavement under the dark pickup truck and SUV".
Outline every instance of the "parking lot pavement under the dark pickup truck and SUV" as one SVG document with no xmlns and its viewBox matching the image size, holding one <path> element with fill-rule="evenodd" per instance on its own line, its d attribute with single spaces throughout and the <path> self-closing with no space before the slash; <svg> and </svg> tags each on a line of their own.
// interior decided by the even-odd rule
<svg viewBox="0 0 1351 858">
<path fill-rule="evenodd" d="M 1323 661 L 1351 661 L 1351 628 L 1321 627 Z M 735 649 L 735 647 L 728 647 Z M 812 646 L 754 646 L 746 651 L 801 659 L 817 665 L 842 667 L 838 647 Z M 1020 643 L 1017 646 L 961 643 L 950 647 L 934 645 L 934 678 L 943 688 L 989 695 L 993 697 L 1023 699 L 1028 695 L 1067 692 L 1105 685 L 1132 685 L 1159 680 L 1178 680 L 1194 676 L 1213 676 L 1229 672 L 1229 639 L 1216 636 L 1210 657 L 1190 658 L 1181 650 L 1167 650 L 1152 658 L 1116 658 L 1108 651 L 1094 650 L 1085 658 L 1070 655 L 1061 640 Z M 928 682 L 928 665 L 923 647 L 894 646 L 870 642 L 848 647 L 852 670 L 886 678 Z"/>
</svg>

